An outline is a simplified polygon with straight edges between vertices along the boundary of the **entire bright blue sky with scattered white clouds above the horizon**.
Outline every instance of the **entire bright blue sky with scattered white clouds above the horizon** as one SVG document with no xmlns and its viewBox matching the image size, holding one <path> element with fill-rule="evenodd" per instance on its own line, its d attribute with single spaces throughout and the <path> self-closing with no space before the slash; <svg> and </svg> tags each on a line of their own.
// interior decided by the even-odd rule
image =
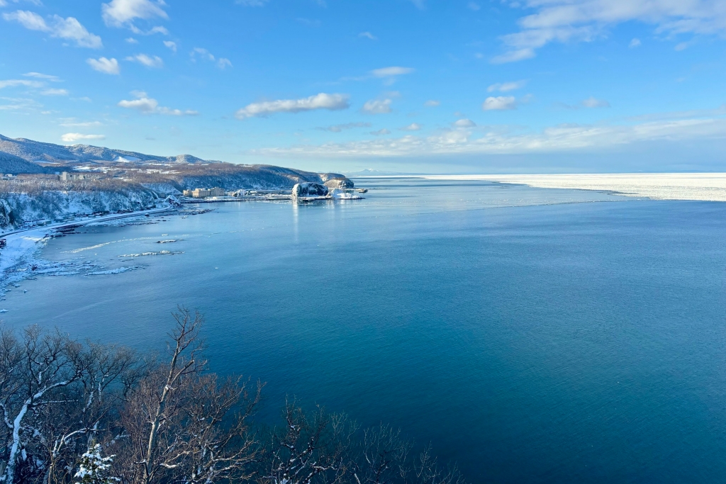
<svg viewBox="0 0 726 484">
<path fill-rule="evenodd" d="M 0 0 L 0 134 L 310 170 L 726 171 L 722 0 Z"/>
</svg>

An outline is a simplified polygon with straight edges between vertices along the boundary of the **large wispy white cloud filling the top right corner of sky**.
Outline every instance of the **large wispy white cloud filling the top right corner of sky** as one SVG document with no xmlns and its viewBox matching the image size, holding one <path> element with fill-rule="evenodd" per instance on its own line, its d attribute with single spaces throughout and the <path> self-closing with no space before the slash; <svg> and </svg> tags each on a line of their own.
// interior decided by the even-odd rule
<svg viewBox="0 0 726 484">
<path fill-rule="evenodd" d="M 513 7 L 534 9 L 518 20 L 521 30 L 502 37 L 505 54 L 492 62 L 515 62 L 534 57 L 535 49 L 550 42 L 593 41 L 607 28 L 639 21 L 655 26 L 656 33 L 726 33 L 722 0 L 524 0 Z"/>
</svg>

